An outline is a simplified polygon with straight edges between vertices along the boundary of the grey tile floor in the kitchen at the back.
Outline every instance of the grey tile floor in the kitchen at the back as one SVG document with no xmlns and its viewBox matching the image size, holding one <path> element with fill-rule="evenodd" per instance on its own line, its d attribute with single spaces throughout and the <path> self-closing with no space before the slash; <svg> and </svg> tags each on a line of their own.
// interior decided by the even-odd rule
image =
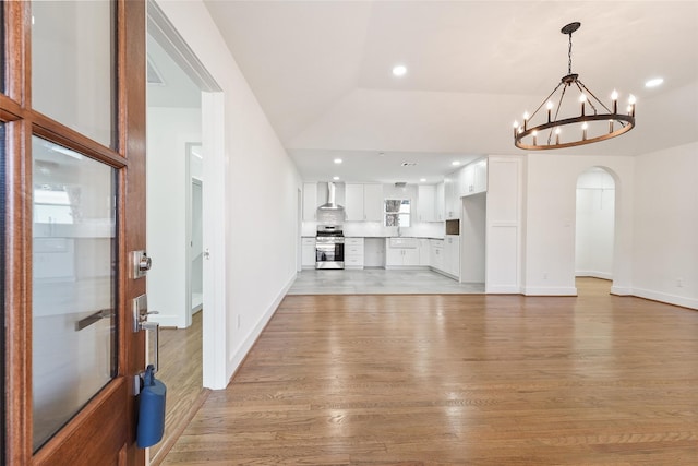
<svg viewBox="0 0 698 466">
<path fill-rule="evenodd" d="M 312 270 L 298 273 L 288 295 L 465 295 L 482 294 L 482 283 L 458 283 L 430 270 Z"/>
</svg>

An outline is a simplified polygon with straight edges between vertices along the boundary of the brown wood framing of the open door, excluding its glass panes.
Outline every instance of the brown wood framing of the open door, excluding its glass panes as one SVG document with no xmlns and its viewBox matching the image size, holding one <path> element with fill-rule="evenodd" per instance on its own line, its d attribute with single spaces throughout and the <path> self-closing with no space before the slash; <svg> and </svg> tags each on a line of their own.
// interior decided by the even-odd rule
<svg viewBox="0 0 698 466">
<path fill-rule="evenodd" d="M 135 425 L 135 377 L 143 370 L 145 338 L 132 332 L 131 300 L 145 292 L 145 279 L 128 274 L 129 251 L 145 249 L 145 2 L 115 0 L 116 12 L 116 148 L 104 146 L 32 109 L 31 2 L 5 1 L 4 75 L 0 120 L 5 123 L 5 451 L 7 464 L 41 464 L 81 457 L 70 449 L 89 441 L 118 450 L 118 463 L 145 464 L 135 446 L 135 430 L 95 422 L 99 416 Z M 127 39 L 128 38 L 128 39 Z M 32 432 L 32 135 L 77 150 L 118 169 L 118 368 L 107 384 L 36 455 Z M 122 398 L 120 409 L 107 406 Z M 115 426 L 117 422 L 115 422 Z M 92 429 L 85 437 L 85 426 Z M 125 429 L 128 430 L 128 429 Z"/>
</svg>

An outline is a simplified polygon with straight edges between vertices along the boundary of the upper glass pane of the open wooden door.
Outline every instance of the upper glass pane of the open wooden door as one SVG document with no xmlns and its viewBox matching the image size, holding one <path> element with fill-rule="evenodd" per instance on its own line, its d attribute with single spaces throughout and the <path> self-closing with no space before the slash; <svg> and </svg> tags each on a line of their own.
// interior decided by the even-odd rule
<svg viewBox="0 0 698 466">
<path fill-rule="evenodd" d="M 113 147 L 117 2 L 32 2 L 34 109 Z"/>
</svg>

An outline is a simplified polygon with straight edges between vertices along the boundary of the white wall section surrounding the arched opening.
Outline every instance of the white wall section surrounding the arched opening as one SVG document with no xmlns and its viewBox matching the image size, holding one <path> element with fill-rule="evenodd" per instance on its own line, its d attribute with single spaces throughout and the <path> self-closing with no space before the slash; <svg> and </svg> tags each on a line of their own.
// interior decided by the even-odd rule
<svg viewBox="0 0 698 466">
<path fill-rule="evenodd" d="M 635 158 L 529 154 L 525 208 L 526 295 L 576 295 L 575 222 L 577 178 L 603 167 L 616 182 L 613 291 L 630 294 Z"/>
</svg>

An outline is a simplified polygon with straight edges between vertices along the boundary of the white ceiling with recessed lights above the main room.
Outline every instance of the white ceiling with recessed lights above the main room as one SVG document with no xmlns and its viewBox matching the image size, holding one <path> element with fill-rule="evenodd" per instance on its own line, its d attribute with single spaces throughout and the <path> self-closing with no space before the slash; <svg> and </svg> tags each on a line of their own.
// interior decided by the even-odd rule
<svg viewBox="0 0 698 466">
<path fill-rule="evenodd" d="M 567 74 L 559 29 L 574 21 L 573 72 L 600 97 L 635 94 L 637 127 L 559 153 L 698 140 L 698 1 L 205 4 L 306 180 L 436 182 L 453 159 L 521 154 L 512 123 Z M 654 76 L 664 84 L 645 88 Z"/>
</svg>

